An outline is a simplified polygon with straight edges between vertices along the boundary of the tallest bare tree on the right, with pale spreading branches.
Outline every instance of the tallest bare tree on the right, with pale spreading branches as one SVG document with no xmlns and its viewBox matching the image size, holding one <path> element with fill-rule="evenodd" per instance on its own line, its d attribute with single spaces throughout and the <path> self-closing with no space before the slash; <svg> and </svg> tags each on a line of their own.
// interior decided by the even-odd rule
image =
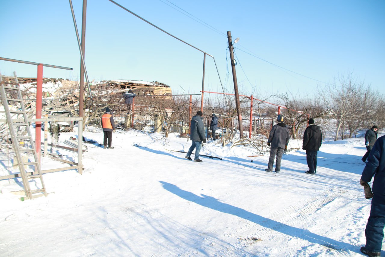
<svg viewBox="0 0 385 257">
<path fill-rule="evenodd" d="M 334 140 L 338 140 L 338 135 L 343 123 L 355 118 L 355 110 L 362 96 L 365 94 L 363 83 L 353 77 L 352 74 L 340 76 L 338 81 L 325 86 L 325 90 L 320 95 L 323 96 L 325 105 L 330 110 L 330 114 L 336 119 L 336 132 Z"/>
</svg>

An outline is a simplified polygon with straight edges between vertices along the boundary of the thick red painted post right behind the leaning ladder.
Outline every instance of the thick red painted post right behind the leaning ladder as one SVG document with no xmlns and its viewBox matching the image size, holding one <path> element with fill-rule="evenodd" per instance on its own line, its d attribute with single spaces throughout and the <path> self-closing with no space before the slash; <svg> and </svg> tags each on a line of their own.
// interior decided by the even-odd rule
<svg viewBox="0 0 385 257">
<path fill-rule="evenodd" d="M 42 118 L 42 96 L 43 96 L 43 64 L 37 66 L 36 80 L 36 118 Z M 36 156 L 40 163 L 41 139 L 42 139 L 42 122 L 35 122 L 35 146 Z"/>
</svg>

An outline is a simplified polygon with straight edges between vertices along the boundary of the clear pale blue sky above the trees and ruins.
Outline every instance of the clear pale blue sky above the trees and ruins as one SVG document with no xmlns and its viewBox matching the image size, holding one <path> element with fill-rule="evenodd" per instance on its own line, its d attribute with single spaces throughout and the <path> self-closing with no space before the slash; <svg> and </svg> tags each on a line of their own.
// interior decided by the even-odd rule
<svg viewBox="0 0 385 257">
<path fill-rule="evenodd" d="M 73 0 L 79 29 L 82 0 Z M 226 93 L 233 93 L 227 31 L 235 44 L 241 94 L 311 94 L 352 73 L 385 93 L 383 0 L 116 0 L 170 34 L 214 56 Z M 44 67 L 44 77 L 78 80 L 80 54 L 67 0 L 3 0 L 0 57 Z M 202 52 L 152 27 L 109 0 L 87 1 L 85 63 L 90 80 L 159 81 L 198 94 Z M 37 66 L 0 60 L 0 72 L 36 77 Z M 206 56 L 205 90 L 221 92 Z"/>
</svg>

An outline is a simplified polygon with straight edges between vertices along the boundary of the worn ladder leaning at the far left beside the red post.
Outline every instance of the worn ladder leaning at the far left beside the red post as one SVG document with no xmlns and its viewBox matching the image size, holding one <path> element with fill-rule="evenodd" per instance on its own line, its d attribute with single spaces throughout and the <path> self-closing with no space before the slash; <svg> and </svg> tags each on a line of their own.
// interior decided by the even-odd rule
<svg viewBox="0 0 385 257">
<path fill-rule="evenodd" d="M 15 150 L 18 168 L 22 176 L 25 196 L 28 199 L 43 195 L 47 196 L 16 73 L 14 73 L 14 76 L 13 80 L 3 81 L 3 76 L 0 73 L 0 90 L 13 149 Z M 22 116 L 22 118 L 20 118 L 20 116 Z M 19 135 L 20 131 L 26 131 L 27 134 Z M 28 154 L 32 154 L 32 156 Z M 25 160 L 23 157 L 28 157 L 28 159 Z M 32 161 L 30 161 L 30 159 Z M 30 166 L 34 167 L 33 171 L 28 171 Z M 40 185 L 37 187 L 37 182 L 39 182 L 37 180 L 39 179 Z M 36 189 L 31 189 L 31 184 L 33 188 Z"/>
</svg>

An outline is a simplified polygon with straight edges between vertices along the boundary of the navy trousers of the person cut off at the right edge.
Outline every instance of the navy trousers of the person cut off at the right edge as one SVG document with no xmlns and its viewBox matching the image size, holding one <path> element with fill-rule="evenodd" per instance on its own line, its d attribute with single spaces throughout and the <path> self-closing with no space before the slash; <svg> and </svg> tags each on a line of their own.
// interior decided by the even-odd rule
<svg viewBox="0 0 385 257">
<path fill-rule="evenodd" d="M 370 207 L 370 216 L 365 229 L 365 248 L 373 252 L 381 252 L 385 226 L 385 195 L 375 193 Z"/>
</svg>

